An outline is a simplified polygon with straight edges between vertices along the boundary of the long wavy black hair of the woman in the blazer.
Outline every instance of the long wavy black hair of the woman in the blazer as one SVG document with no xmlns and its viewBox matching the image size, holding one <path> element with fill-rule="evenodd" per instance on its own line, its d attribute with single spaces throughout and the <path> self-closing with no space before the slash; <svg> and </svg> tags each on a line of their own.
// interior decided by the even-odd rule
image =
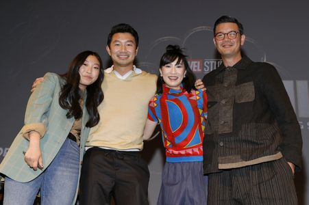
<svg viewBox="0 0 309 205">
<path fill-rule="evenodd" d="M 98 124 L 100 120 L 100 115 L 97 107 L 104 98 L 103 91 L 101 89 L 101 83 L 103 82 L 104 73 L 102 60 L 99 54 L 93 51 L 84 51 L 82 53 L 79 53 L 73 59 L 73 61 L 71 61 L 69 70 L 64 74 L 60 74 L 60 76 L 66 79 L 66 84 L 62 86 L 62 89 L 60 91 L 59 104 L 63 109 L 68 110 L 68 113 L 66 113 L 66 118 L 82 118 L 83 112 L 82 108 L 79 105 L 79 99 L 81 98 L 79 90 L 79 68 L 84 64 L 84 61 L 89 55 L 94 55 L 95 57 L 97 57 L 100 63 L 99 77 L 97 81 L 86 87 L 86 109 L 89 114 L 89 120 L 86 123 L 86 126 L 92 127 Z"/>
</svg>

